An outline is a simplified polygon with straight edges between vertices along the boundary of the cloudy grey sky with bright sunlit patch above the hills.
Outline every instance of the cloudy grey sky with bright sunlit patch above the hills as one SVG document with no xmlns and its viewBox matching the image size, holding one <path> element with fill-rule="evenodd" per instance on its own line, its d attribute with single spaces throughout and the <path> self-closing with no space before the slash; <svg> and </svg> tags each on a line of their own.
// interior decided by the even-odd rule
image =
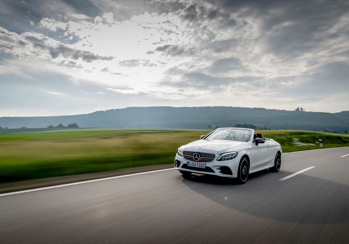
<svg viewBox="0 0 349 244">
<path fill-rule="evenodd" d="M 346 0 L 1 0 L 0 117 L 349 110 Z"/>
</svg>

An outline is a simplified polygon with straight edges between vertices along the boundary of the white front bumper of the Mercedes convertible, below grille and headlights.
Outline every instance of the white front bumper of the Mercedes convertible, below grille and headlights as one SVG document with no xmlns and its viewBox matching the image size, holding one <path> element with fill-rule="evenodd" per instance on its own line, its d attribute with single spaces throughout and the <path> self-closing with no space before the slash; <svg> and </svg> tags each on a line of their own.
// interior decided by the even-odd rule
<svg viewBox="0 0 349 244">
<path fill-rule="evenodd" d="M 206 168 L 197 168 L 187 166 L 188 161 L 194 163 L 195 161 L 187 160 L 184 157 L 180 157 L 178 154 L 176 154 L 176 158 L 174 159 L 174 168 L 176 170 L 189 171 L 198 174 L 210 174 L 221 177 L 236 178 L 240 162 L 239 155 L 236 158 L 226 161 L 217 161 L 217 158 L 218 155 L 216 155 L 213 161 L 206 163 Z"/>
</svg>

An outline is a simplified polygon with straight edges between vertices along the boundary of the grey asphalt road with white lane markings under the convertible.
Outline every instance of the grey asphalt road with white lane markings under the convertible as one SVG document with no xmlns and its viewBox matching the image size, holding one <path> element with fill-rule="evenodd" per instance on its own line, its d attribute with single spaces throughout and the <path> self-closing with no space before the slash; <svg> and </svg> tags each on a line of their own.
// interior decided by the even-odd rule
<svg viewBox="0 0 349 244">
<path fill-rule="evenodd" d="M 166 170 L 0 195 L 0 243 L 349 243 L 348 153 L 287 153 L 244 185 Z"/>
</svg>

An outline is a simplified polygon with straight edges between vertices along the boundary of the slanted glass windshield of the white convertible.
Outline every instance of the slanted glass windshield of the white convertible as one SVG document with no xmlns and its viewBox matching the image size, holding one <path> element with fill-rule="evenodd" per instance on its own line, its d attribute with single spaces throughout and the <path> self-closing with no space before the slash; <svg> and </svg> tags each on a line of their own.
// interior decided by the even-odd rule
<svg viewBox="0 0 349 244">
<path fill-rule="evenodd" d="M 248 142 L 251 136 L 251 130 L 242 129 L 217 129 L 208 135 L 208 140 L 228 140 L 238 142 Z"/>
</svg>

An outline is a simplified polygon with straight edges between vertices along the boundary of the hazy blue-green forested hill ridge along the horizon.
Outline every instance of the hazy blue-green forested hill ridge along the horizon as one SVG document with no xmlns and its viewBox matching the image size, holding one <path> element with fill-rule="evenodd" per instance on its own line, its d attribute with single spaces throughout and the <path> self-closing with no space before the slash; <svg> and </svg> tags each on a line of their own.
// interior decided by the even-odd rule
<svg viewBox="0 0 349 244">
<path fill-rule="evenodd" d="M 77 123 L 80 127 L 207 129 L 248 123 L 270 129 L 349 130 L 349 111 L 322 113 L 241 107 L 130 107 L 91 114 L 0 117 L 2 128 L 43 128 Z"/>
</svg>

